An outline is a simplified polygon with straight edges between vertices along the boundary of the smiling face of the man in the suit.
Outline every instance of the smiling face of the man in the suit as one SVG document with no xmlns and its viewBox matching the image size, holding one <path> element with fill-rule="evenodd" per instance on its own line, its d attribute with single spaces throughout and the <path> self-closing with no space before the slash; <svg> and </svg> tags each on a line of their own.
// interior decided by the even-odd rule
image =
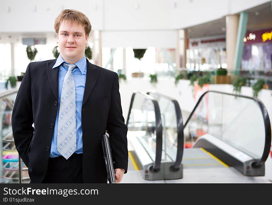
<svg viewBox="0 0 272 205">
<path fill-rule="evenodd" d="M 84 56 L 88 38 L 81 24 L 62 21 L 57 33 L 57 43 L 62 58 L 70 64 L 78 62 Z"/>
</svg>

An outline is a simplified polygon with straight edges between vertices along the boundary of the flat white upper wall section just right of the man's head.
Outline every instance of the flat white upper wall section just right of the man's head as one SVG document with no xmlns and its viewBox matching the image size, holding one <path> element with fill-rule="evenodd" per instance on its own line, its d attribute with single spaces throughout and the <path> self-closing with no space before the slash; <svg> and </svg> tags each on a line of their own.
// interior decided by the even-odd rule
<svg viewBox="0 0 272 205">
<path fill-rule="evenodd" d="M 165 0 L 104 0 L 104 30 L 170 29 L 169 2 Z M 135 9 L 138 4 L 138 9 Z"/>
</svg>

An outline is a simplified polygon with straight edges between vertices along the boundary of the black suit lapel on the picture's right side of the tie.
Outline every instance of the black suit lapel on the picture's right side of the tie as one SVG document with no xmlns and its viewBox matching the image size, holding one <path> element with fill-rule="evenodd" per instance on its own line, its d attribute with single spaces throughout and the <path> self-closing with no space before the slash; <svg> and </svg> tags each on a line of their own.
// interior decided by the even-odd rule
<svg viewBox="0 0 272 205">
<path fill-rule="evenodd" d="M 93 66 L 88 59 L 87 60 L 87 76 L 86 76 L 86 83 L 85 83 L 85 90 L 83 95 L 83 102 L 82 105 L 86 103 L 88 100 L 92 89 L 94 88 L 98 75 L 99 75 L 99 69 L 97 69 L 95 66 Z"/>
</svg>

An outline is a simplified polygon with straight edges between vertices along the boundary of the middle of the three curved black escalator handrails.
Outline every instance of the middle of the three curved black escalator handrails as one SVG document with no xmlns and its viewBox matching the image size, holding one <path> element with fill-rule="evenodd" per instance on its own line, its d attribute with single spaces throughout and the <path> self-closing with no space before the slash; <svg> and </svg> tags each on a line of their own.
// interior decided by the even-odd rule
<svg viewBox="0 0 272 205">
<path fill-rule="evenodd" d="M 182 120 L 182 114 L 181 114 L 181 108 L 178 103 L 178 101 L 174 98 L 171 98 L 169 96 L 165 96 L 161 93 L 155 92 L 155 91 L 149 91 L 147 92 L 147 95 L 150 93 L 155 93 L 163 98 L 166 98 L 168 100 L 171 100 L 175 107 L 175 113 L 176 113 L 176 123 L 177 123 L 177 151 L 176 151 L 176 161 L 172 166 L 170 166 L 171 171 L 178 171 L 180 169 L 181 160 L 183 156 L 183 143 L 184 143 L 184 132 L 183 132 L 183 120 Z"/>
</svg>

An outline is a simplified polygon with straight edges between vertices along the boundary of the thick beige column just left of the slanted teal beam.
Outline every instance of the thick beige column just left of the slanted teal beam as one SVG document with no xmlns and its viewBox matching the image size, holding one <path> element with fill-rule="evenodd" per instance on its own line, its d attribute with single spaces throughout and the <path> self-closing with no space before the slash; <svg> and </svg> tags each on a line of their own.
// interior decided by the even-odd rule
<svg viewBox="0 0 272 205">
<path fill-rule="evenodd" d="M 227 69 L 234 69 L 234 58 L 236 49 L 236 39 L 238 32 L 239 15 L 226 16 L 226 51 L 227 51 Z"/>
</svg>

